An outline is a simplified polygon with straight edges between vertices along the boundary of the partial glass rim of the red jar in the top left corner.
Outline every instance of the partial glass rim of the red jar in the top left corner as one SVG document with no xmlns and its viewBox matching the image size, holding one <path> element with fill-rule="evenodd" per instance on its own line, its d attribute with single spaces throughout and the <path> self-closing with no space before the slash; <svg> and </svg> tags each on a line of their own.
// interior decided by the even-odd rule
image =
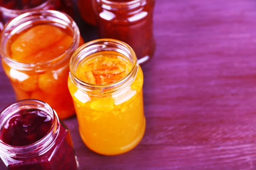
<svg viewBox="0 0 256 170">
<path fill-rule="evenodd" d="M 7 12 L 7 13 L 10 13 L 10 14 L 23 14 L 23 13 L 26 13 L 26 12 L 43 9 L 43 8 L 47 7 L 48 5 L 50 5 L 51 1 L 52 0 L 46 0 L 44 3 L 42 3 L 38 6 L 35 6 L 33 8 L 28 8 L 28 9 L 9 9 L 9 8 L 5 8 L 3 6 L 0 6 L 0 11 Z"/>
</svg>

